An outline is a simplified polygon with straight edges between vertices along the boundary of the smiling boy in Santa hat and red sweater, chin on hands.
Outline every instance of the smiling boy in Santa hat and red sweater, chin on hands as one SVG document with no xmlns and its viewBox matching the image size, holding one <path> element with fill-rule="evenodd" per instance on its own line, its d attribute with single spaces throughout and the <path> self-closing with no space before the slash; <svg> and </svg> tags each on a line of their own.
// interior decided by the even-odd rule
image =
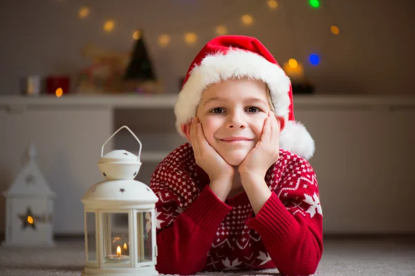
<svg viewBox="0 0 415 276">
<path fill-rule="evenodd" d="M 151 177 L 159 273 L 277 268 L 311 275 L 322 209 L 293 115 L 291 83 L 255 38 L 216 37 L 190 66 L 175 106 L 187 137 Z"/>
</svg>

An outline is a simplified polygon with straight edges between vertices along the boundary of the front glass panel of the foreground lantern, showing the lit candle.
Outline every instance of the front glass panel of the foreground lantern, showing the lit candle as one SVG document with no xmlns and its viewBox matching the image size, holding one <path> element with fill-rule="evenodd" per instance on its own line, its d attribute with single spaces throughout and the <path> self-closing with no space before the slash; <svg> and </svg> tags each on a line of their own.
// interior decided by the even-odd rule
<svg viewBox="0 0 415 276">
<path fill-rule="evenodd" d="M 102 233 L 104 264 L 127 264 L 130 262 L 129 214 L 103 213 Z"/>
</svg>

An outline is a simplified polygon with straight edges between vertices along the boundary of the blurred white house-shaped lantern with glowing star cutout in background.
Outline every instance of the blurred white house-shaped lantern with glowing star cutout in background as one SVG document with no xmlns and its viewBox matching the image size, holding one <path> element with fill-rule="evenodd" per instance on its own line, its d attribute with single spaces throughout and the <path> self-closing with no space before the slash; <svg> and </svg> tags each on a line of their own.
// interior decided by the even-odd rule
<svg viewBox="0 0 415 276">
<path fill-rule="evenodd" d="M 2 246 L 55 246 L 52 217 L 56 195 L 37 166 L 33 143 L 25 157 L 27 164 L 3 193 L 6 197 L 6 241 Z"/>
</svg>

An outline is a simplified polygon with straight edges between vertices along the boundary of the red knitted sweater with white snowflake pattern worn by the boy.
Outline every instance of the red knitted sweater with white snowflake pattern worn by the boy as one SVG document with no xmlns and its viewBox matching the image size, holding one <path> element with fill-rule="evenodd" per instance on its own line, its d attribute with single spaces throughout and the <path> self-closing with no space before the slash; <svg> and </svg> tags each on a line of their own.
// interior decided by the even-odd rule
<svg viewBox="0 0 415 276">
<path fill-rule="evenodd" d="M 266 174 L 274 193 L 254 215 L 245 192 L 225 202 L 184 144 L 151 177 L 158 196 L 157 270 L 192 275 L 203 270 L 277 268 L 311 275 L 322 257 L 322 208 L 308 161 L 280 150 Z"/>
</svg>

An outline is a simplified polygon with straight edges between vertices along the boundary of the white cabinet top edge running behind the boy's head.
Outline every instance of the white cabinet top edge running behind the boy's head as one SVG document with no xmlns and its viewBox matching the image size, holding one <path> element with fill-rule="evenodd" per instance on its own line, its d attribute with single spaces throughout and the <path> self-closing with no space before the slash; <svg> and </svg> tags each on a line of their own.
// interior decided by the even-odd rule
<svg viewBox="0 0 415 276">
<path fill-rule="evenodd" d="M 164 95 L 67 95 L 0 96 L 0 108 L 174 108 L 176 94 Z M 412 95 L 294 95 L 300 108 L 370 107 L 413 108 Z"/>
</svg>

